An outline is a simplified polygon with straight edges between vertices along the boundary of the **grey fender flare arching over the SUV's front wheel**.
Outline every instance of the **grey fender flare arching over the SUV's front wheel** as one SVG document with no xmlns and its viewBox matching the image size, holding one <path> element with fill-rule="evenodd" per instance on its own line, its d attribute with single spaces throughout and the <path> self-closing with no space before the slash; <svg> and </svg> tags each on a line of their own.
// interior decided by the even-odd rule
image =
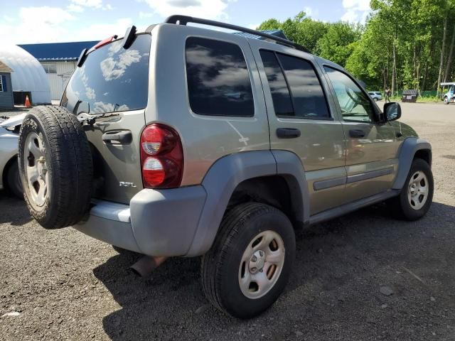
<svg viewBox="0 0 455 341">
<path fill-rule="evenodd" d="M 403 188 L 407 175 L 410 172 L 415 153 L 421 150 L 429 151 L 429 161 L 430 166 L 432 166 L 432 145 L 429 144 L 427 140 L 412 136 L 403 141 L 400 150 L 398 151 L 398 171 L 392 189 L 401 190 Z"/>
</svg>

